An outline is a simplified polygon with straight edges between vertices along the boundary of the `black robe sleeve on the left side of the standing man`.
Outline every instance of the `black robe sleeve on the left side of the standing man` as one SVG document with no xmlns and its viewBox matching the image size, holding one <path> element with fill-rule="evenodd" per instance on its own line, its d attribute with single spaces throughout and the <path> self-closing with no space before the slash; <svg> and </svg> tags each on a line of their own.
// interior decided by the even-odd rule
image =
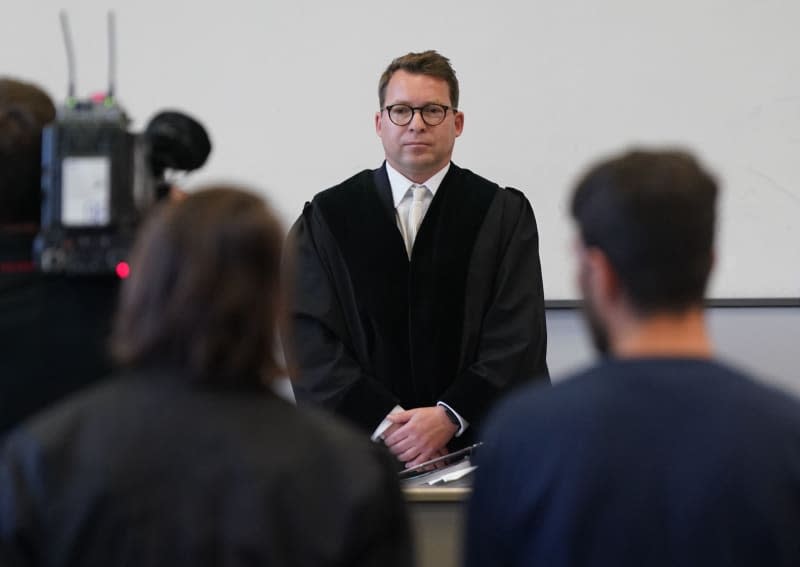
<svg viewBox="0 0 800 567">
<path fill-rule="evenodd" d="M 345 263 L 313 204 L 290 232 L 284 266 L 293 290 L 284 341 L 298 403 L 324 407 L 371 432 L 399 400 L 368 368 Z"/>
</svg>

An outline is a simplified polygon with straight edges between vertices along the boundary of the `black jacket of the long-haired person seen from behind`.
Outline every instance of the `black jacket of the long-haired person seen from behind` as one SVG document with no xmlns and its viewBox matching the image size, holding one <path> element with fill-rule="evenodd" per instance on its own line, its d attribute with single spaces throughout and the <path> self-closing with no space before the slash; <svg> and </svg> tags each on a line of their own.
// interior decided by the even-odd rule
<svg viewBox="0 0 800 567">
<path fill-rule="evenodd" d="M 110 380 L 16 430 L 0 564 L 412 564 L 385 449 L 261 390 Z"/>
</svg>

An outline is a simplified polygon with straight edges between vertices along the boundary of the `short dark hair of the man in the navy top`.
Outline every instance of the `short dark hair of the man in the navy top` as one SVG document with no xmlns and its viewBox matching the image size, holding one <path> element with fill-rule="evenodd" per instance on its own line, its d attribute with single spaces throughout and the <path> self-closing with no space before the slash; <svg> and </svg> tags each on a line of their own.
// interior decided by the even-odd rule
<svg viewBox="0 0 800 567">
<path fill-rule="evenodd" d="M 717 184 L 683 151 L 631 151 L 592 167 L 572 216 L 641 316 L 701 306 L 713 261 Z"/>
</svg>

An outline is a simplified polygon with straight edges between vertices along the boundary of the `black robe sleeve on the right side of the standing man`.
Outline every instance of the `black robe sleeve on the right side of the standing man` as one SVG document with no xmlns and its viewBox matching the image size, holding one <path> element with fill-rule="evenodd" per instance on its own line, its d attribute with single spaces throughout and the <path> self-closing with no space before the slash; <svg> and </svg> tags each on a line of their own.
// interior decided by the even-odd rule
<svg viewBox="0 0 800 567">
<path fill-rule="evenodd" d="M 474 266 L 486 278 L 493 268 L 485 264 L 492 253 L 499 256 L 496 273 L 487 284 L 488 301 L 481 302 L 468 291 L 467 305 L 483 305 L 480 320 L 467 320 L 467 364 L 441 400 L 471 424 L 481 421 L 490 406 L 517 383 L 532 379 L 547 381 L 547 329 L 545 323 L 542 270 L 539 262 L 539 233 L 528 200 L 514 189 L 504 190 L 502 206 L 487 217 L 489 231 L 499 234 L 496 243 L 479 243 Z M 493 227 L 492 224 L 495 224 Z M 497 230 L 499 225 L 501 230 Z M 496 249 L 495 249 L 496 246 Z M 474 347 L 470 349 L 470 343 Z"/>
</svg>

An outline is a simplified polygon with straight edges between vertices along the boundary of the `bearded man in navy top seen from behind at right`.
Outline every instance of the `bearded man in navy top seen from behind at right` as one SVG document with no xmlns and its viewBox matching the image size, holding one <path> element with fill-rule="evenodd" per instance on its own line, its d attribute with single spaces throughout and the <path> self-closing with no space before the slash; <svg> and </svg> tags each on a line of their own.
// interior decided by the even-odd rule
<svg viewBox="0 0 800 567">
<path fill-rule="evenodd" d="M 800 403 L 714 360 L 717 184 L 632 151 L 578 183 L 578 280 L 603 359 L 501 404 L 466 565 L 800 565 Z"/>
</svg>

